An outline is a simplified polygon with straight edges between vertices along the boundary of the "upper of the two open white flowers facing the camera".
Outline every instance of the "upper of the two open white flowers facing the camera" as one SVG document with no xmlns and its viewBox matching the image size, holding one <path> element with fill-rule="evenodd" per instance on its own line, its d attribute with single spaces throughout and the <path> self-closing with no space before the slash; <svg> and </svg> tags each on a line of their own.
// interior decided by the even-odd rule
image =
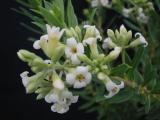
<svg viewBox="0 0 160 120">
<path fill-rule="evenodd" d="M 67 58 L 70 58 L 72 64 L 79 64 L 80 60 L 77 57 L 77 54 L 83 54 L 84 47 L 82 43 L 77 43 L 75 38 L 67 39 L 67 47 L 65 48 L 65 54 Z"/>
</svg>

